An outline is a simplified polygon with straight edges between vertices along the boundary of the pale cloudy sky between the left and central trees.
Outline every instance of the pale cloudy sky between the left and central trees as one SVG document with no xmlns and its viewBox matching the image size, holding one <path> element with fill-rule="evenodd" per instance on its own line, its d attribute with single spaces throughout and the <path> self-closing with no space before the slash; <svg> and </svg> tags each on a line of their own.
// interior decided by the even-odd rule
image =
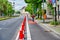
<svg viewBox="0 0 60 40">
<path fill-rule="evenodd" d="M 15 2 L 15 10 L 20 10 L 22 7 L 26 6 L 27 4 L 24 0 L 8 0 L 9 2 Z"/>
</svg>

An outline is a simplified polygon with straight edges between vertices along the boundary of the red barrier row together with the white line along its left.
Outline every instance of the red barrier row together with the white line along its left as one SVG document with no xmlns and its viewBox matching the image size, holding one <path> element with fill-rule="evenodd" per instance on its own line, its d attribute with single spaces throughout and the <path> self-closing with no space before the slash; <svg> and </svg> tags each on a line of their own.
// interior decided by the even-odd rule
<svg viewBox="0 0 60 40">
<path fill-rule="evenodd" d="M 21 27 L 19 29 L 16 40 L 24 40 L 25 24 L 26 24 L 26 16 L 24 17 L 24 20 L 23 20 L 22 25 L 21 25 Z"/>
</svg>

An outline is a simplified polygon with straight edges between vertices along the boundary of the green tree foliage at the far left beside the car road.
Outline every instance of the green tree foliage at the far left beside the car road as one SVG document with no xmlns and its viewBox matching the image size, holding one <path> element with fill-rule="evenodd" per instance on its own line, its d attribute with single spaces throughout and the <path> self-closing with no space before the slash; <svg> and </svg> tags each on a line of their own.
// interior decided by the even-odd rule
<svg viewBox="0 0 60 40">
<path fill-rule="evenodd" d="M 0 0 L 0 16 L 3 13 L 5 16 L 12 15 L 12 5 L 8 0 Z"/>
</svg>

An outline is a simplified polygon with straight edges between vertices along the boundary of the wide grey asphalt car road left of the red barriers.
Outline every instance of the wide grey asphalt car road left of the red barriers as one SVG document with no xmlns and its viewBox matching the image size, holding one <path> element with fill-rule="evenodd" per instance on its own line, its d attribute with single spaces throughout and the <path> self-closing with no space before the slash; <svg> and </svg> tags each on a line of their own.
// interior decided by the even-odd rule
<svg viewBox="0 0 60 40">
<path fill-rule="evenodd" d="M 24 16 L 0 21 L 0 40 L 15 40 L 14 36 L 19 29 Z"/>
</svg>

